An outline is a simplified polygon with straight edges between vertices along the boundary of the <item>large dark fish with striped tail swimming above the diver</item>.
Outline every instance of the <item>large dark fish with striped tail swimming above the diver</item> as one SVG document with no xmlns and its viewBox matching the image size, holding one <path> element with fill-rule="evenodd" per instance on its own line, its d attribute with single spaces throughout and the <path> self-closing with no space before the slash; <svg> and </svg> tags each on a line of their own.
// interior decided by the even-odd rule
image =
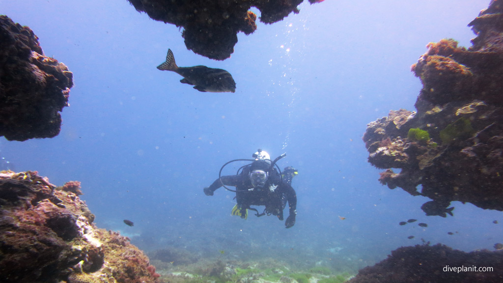
<svg viewBox="0 0 503 283">
<path fill-rule="evenodd" d="M 160 70 L 171 70 L 184 77 L 182 84 L 193 85 L 200 92 L 235 92 L 236 83 L 232 76 L 223 69 L 207 66 L 179 67 L 171 49 L 167 50 L 166 61 L 157 66 Z"/>
</svg>

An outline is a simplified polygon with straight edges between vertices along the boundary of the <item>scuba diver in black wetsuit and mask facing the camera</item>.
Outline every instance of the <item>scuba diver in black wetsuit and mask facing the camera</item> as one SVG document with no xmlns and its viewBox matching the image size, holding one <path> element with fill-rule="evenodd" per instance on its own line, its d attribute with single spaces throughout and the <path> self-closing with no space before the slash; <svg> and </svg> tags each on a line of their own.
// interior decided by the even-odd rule
<svg viewBox="0 0 503 283">
<path fill-rule="evenodd" d="M 297 175 L 297 170 L 293 167 L 286 167 L 283 172 L 276 165 L 276 162 L 285 157 L 280 155 L 274 161 L 271 161 L 269 154 L 258 150 L 252 155 L 255 159 L 236 159 L 225 163 L 216 179 L 209 187 L 203 189 L 206 195 L 213 195 L 213 192 L 224 187 L 227 190 L 236 193 L 236 202 L 232 208 L 232 215 L 243 219 L 248 217 L 248 209 L 256 211 L 256 216 L 275 215 L 280 221 L 283 221 L 283 209 L 288 202 L 289 216 L 285 221 L 285 227 L 290 228 L 295 225 L 295 216 L 297 215 L 297 195 L 292 188 L 292 178 Z M 236 175 L 221 176 L 223 168 L 234 161 L 252 161 L 251 164 L 242 166 L 237 170 Z M 276 168 L 274 168 L 276 166 Z M 279 172 L 278 172 L 279 171 Z M 234 186 L 235 190 L 226 187 Z M 265 205 L 262 214 L 251 205 Z"/>
</svg>

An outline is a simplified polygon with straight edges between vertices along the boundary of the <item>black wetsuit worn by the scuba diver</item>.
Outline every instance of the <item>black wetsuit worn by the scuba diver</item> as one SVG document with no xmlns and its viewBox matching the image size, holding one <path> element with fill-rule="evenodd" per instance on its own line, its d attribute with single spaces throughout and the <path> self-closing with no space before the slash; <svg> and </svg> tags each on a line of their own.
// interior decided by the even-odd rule
<svg viewBox="0 0 503 283">
<path fill-rule="evenodd" d="M 275 215 L 280 220 L 283 220 L 283 209 L 288 201 L 290 216 L 295 218 L 297 207 L 297 195 L 292 186 L 285 181 L 281 181 L 281 177 L 276 169 L 269 172 L 269 178 L 261 188 L 254 188 L 248 177 L 250 166 L 243 168 L 239 175 L 222 176 L 221 179 L 216 179 L 206 190 L 213 192 L 222 186 L 222 182 L 226 186 L 236 187 L 236 201 L 240 209 L 251 209 L 251 205 L 265 205 L 266 208 L 263 214 L 257 213 L 258 216 L 264 214 Z M 222 182 L 220 182 L 222 180 Z M 291 179 L 290 179 L 291 181 Z M 271 185 L 278 185 L 276 189 L 271 190 Z"/>
</svg>

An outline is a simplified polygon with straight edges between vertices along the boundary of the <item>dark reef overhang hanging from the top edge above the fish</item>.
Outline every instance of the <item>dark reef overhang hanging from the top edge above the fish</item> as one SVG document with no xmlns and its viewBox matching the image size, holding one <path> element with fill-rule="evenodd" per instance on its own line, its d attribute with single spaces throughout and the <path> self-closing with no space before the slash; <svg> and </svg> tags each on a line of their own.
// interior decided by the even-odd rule
<svg viewBox="0 0 503 283">
<path fill-rule="evenodd" d="M 257 29 L 256 7 L 260 21 L 266 24 L 283 20 L 290 13 L 299 13 L 303 0 L 128 0 L 136 11 L 145 12 L 153 20 L 183 27 L 182 37 L 187 49 L 211 59 L 224 60 L 234 52 L 237 33 L 246 35 Z M 323 1 L 323 0 L 321 0 Z M 311 4 L 321 2 L 309 0 Z"/>
</svg>

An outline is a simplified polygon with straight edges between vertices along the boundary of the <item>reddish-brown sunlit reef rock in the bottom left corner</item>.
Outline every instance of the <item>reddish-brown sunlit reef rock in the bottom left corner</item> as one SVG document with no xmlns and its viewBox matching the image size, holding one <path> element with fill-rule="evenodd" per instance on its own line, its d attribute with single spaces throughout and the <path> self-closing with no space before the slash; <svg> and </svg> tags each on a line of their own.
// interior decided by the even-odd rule
<svg viewBox="0 0 503 283">
<path fill-rule="evenodd" d="M 0 172 L 0 274 L 4 283 L 154 283 L 159 274 L 129 239 L 98 229 L 78 197 L 37 172 Z"/>
</svg>

